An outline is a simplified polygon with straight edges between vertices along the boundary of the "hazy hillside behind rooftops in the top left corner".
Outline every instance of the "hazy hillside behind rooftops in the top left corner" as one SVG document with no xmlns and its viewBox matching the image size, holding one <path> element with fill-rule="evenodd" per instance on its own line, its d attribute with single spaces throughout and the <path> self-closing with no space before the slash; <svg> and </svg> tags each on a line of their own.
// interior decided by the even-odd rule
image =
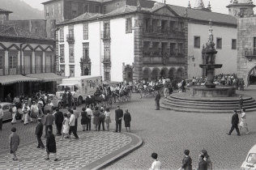
<svg viewBox="0 0 256 170">
<path fill-rule="evenodd" d="M 32 6 L 20 0 L 0 0 L 0 8 L 13 11 L 13 13 L 10 14 L 10 20 L 44 19 L 43 11 L 32 8 Z"/>
</svg>

